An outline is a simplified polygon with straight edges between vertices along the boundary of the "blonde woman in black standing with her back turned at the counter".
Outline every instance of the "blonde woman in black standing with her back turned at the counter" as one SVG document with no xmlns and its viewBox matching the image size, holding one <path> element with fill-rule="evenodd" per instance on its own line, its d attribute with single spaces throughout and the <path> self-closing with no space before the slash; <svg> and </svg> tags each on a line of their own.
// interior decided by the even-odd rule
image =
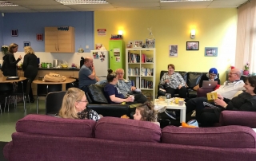
<svg viewBox="0 0 256 161">
<path fill-rule="evenodd" d="M 22 69 L 24 71 L 24 77 L 34 81 L 34 78 L 38 75 L 38 57 L 34 54 L 34 50 L 30 46 L 24 47 L 24 61 Z M 30 102 L 34 102 L 33 92 L 30 84 Z"/>
</svg>

